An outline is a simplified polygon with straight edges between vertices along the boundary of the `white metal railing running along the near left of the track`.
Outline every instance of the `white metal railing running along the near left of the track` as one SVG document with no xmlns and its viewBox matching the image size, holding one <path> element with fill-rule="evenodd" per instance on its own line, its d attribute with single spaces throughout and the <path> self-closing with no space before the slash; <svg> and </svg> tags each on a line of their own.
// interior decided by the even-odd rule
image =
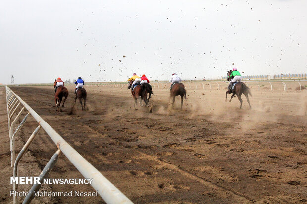
<svg viewBox="0 0 307 204">
<path fill-rule="evenodd" d="M 90 164 L 86 159 L 84 159 L 74 148 L 72 148 L 47 122 L 44 121 L 27 103 L 25 103 L 18 95 L 16 95 L 9 87 L 6 86 L 6 102 L 7 102 L 7 117 L 8 117 L 8 130 L 9 130 L 9 138 L 10 138 L 10 151 L 11 151 L 11 166 L 14 167 L 13 177 L 18 176 L 18 163 L 25 151 L 27 151 L 29 145 L 34 140 L 38 131 L 42 128 L 49 135 L 51 140 L 56 144 L 58 150 L 51 157 L 51 160 L 45 166 L 42 171 L 40 177 L 48 176 L 52 167 L 57 161 L 57 158 L 62 152 L 68 160 L 78 169 L 78 171 L 85 178 L 92 178 L 93 181 L 91 185 L 95 190 L 97 190 L 98 194 L 102 197 L 102 199 L 107 204 L 132 204 L 132 202 L 122 193 L 120 192 L 109 180 L 107 180 L 92 164 Z M 17 104 L 17 105 L 16 105 Z M 17 108 L 22 105 L 21 110 L 16 113 Z M 12 111 L 13 110 L 13 111 Z M 18 125 L 18 127 L 13 132 L 13 128 L 17 123 L 19 117 L 24 111 L 27 111 L 26 116 L 23 118 L 22 122 Z M 10 123 L 12 120 L 12 116 L 17 114 L 14 121 Z M 17 158 L 15 159 L 15 136 L 18 131 L 22 128 L 24 123 L 26 122 L 28 116 L 31 115 L 37 122 L 38 127 L 34 130 Z M 17 191 L 18 185 L 14 183 L 13 189 Z M 39 189 L 40 186 L 33 185 L 31 190 L 29 191 L 30 196 L 26 197 L 23 201 L 23 204 L 27 204 L 31 202 L 33 198 L 33 189 Z M 18 197 L 14 194 L 14 204 L 18 203 Z"/>
</svg>

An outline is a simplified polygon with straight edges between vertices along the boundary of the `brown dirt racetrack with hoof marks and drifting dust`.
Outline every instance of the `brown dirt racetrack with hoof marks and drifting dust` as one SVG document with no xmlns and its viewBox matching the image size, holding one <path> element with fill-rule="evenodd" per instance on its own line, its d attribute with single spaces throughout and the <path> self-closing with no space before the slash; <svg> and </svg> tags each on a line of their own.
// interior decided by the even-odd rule
<svg viewBox="0 0 307 204">
<path fill-rule="evenodd" d="M 77 102 L 74 114 L 69 115 L 73 86 L 68 86 L 69 97 L 61 112 L 54 107 L 52 86 L 11 87 L 132 202 L 307 202 L 306 90 L 272 92 L 252 88 L 252 109 L 248 109 L 243 96 L 240 110 L 237 98 L 225 102 L 225 90 L 188 89 L 184 108 L 180 110 L 179 97 L 171 109 L 169 90 L 153 89 L 153 111 L 149 113 L 148 107 L 133 108 L 126 87 L 85 88 L 86 111 Z M 4 88 L 0 92 L 1 104 L 5 104 Z M 7 128 L 5 111 L 6 105 L 2 105 L 2 129 Z M 24 125 L 17 137 L 16 144 L 20 144 L 16 145 L 17 152 L 36 126 L 32 119 Z M 1 135 L 6 134 L 4 130 Z M 42 169 L 56 146 L 41 130 L 29 150 L 36 159 L 22 163 L 21 168 L 37 165 Z M 9 153 L 1 152 L 1 162 L 9 162 L 9 157 Z M 31 169 L 21 172 L 27 176 Z M 82 175 L 61 155 L 49 177 L 82 178 Z M 44 188 L 93 191 L 89 185 Z M 6 189 L 7 193 L 2 191 L 3 203 L 12 200 L 9 188 Z M 103 201 L 98 196 L 56 197 L 52 202 Z"/>
</svg>

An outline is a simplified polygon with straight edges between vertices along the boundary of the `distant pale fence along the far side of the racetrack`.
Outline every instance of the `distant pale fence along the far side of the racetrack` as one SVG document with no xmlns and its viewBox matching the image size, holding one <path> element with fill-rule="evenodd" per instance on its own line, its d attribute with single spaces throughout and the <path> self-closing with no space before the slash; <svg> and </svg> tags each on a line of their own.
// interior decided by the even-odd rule
<svg viewBox="0 0 307 204">
<path fill-rule="evenodd" d="M 297 83 L 300 86 L 300 91 L 302 91 L 302 84 L 300 82 L 307 82 L 307 80 L 271 80 L 271 81 L 242 81 L 247 86 L 249 84 L 255 84 L 258 87 L 258 90 L 260 90 L 260 87 L 263 86 L 263 83 L 267 83 L 269 85 L 270 89 L 273 90 L 273 84 L 274 86 L 282 85 L 284 91 L 287 91 L 287 83 Z M 259 82 L 261 84 L 259 84 Z M 212 90 L 212 86 L 216 87 L 217 90 L 220 90 L 221 86 L 227 87 L 229 82 L 227 81 L 200 81 L 200 82 L 182 82 L 187 89 L 205 89 L 206 86 Z M 273 84 L 272 84 L 273 83 Z M 153 89 L 163 89 L 163 88 L 169 88 L 170 83 L 168 82 L 151 82 L 150 83 L 153 87 Z M 102 87 L 127 87 L 127 83 L 125 82 L 114 82 L 114 83 L 90 83 L 88 86 L 102 86 Z"/>
</svg>

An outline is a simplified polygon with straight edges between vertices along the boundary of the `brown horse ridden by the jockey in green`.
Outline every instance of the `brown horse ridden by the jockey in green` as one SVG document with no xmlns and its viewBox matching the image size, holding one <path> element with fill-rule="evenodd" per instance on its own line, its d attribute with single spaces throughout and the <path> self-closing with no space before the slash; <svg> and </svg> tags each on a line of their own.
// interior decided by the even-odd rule
<svg viewBox="0 0 307 204">
<path fill-rule="evenodd" d="M 231 73 L 232 73 L 232 71 L 229 70 L 229 71 L 228 71 L 228 74 L 227 74 L 227 81 L 232 80 L 232 79 L 229 77 L 229 76 L 231 75 Z M 242 99 L 241 99 L 242 93 L 245 95 L 246 100 L 247 100 L 247 102 L 249 103 L 249 106 L 250 106 L 250 108 L 251 108 L 251 104 L 250 104 L 250 100 L 249 100 L 249 94 L 250 94 L 251 96 L 252 96 L 252 94 L 251 94 L 250 88 L 247 87 L 247 86 L 245 85 L 245 83 L 243 83 L 243 82 L 236 83 L 235 86 L 233 87 L 233 89 L 231 89 L 231 87 L 230 87 L 230 89 L 228 89 L 228 90 L 226 91 L 226 101 L 227 101 L 227 94 L 232 94 L 232 96 L 231 96 L 229 102 L 231 102 L 231 99 L 232 99 L 235 95 L 237 95 L 237 97 L 238 97 L 238 99 L 239 99 L 239 101 L 240 101 L 240 109 L 241 109 L 241 107 L 242 107 Z"/>
</svg>

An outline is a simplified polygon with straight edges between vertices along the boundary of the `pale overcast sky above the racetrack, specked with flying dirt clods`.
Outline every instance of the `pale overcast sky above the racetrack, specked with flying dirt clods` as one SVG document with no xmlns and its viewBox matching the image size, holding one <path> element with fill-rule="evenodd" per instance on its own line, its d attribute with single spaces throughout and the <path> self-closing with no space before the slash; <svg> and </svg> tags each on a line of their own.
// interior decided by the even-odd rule
<svg viewBox="0 0 307 204">
<path fill-rule="evenodd" d="M 307 0 L 1 0 L 0 83 L 307 72 Z M 125 57 L 124 57 L 125 56 Z"/>
</svg>

